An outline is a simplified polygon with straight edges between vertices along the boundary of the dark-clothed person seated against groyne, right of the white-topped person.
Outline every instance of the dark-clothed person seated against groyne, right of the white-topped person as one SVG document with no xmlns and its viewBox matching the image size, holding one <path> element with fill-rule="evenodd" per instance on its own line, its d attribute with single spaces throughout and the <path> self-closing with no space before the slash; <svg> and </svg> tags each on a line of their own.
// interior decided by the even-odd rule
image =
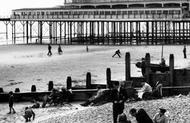
<svg viewBox="0 0 190 123">
<path fill-rule="evenodd" d="M 152 91 L 152 96 L 156 98 L 162 97 L 162 83 L 160 81 L 156 82 L 155 88 Z"/>
</svg>

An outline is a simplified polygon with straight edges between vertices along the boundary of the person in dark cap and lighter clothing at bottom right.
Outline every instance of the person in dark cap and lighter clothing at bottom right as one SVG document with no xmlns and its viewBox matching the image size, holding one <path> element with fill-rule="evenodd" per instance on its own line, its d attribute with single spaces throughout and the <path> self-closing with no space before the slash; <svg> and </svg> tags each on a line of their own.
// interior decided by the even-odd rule
<svg viewBox="0 0 190 123">
<path fill-rule="evenodd" d="M 165 112 L 166 109 L 160 108 L 160 112 L 153 117 L 154 123 L 168 123 L 168 117 Z"/>
</svg>

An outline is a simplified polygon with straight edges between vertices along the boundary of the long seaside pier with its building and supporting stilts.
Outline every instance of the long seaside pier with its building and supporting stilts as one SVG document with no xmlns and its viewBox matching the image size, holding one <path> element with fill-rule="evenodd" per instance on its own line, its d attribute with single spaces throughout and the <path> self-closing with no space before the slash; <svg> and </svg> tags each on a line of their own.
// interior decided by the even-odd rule
<svg viewBox="0 0 190 123">
<path fill-rule="evenodd" d="M 14 43 L 17 39 L 16 23 L 23 25 L 23 37 L 27 44 L 190 43 L 190 0 L 63 2 L 63 5 L 52 8 L 13 10 L 10 20 Z M 33 35 L 34 28 L 37 28 L 37 36 Z"/>
</svg>

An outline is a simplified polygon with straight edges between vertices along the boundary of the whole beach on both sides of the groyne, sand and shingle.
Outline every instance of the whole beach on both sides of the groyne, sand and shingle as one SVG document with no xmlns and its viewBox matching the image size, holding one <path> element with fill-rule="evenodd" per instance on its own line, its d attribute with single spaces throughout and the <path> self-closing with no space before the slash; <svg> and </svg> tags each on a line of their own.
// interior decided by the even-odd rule
<svg viewBox="0 0 190 123">
<path fill-rule="evenodd" d="M 57 45 L 52 46 L 53 55 L 47 56 L 47 45 L 4 45 L 0 46 L 0 87 L 5 92 L 20 88 L 21 92 L 30 91 L 32 85 L 36 85 L 37 91 L 47 91 L 47 84 L 54 81 L 55 87 L 65 86 L 67 76 L 71 76 L 75 85 L 85 84 L 86 73 L 91 72 L 92 83 L 106 83 L 106 68 L 111 68 L 112 80 L 124 80 L 125 53 L 131 53 L 131 74 L 142 76 L 141 70 L 135 66 L 146 53 L 150 53 L 151 62 L 159 63 L 161 46 L 89 46 L 86 52 L 85 46 L 62 46 L 63 54 L 57 54 Z M 120 49 L 122 57 L 112 58 L 114 52 Z M 174 54 L 175 68 L 188 68 L 190 65 L 187 46 L 187 59 L 183 59 L 183 46 L 164 46 L 164 58 L 169 63 L 169 54 Z M 168 104 L 169 112 L 174 115 L 171 123 L 179 123 L 189 117 L 189 109 L 183 110 L 189 97 L 165 98 L 162 100 L 140 101 L 126 104 L 126 113 L 131 107 L 143 107 L 151 115 L 156 113 L 158 106 Z M 177 102 L 177 105 L 176 105 Z M 145 104 L 146 103 L 146 104 Z M 148 104 L 148 105 L 147 105 Z M 161 105 L 159 105 L 161 104 Z M 22 123 L 24 107 L 31 103 L 16 103 L 17 111 L 14 115 L 7 115 L 8 105 L 0 104 L 0 123 Z M 180 108 L 180 105 L 182 108 Z M 40 123 L 111 123 L 112 104 L 108 103 L 99 107 L 81 107 L 79 103 L 63 107 L 50 107 L 47 109 L 35 109 L 36 120 Z M 173 106 L 173 107 L 172 107 Z M 184 106 L 184 107 L 183 107 Z M 150 107 L 154 110 L 149 110 Z M 190 106 L 189 106 L 190 107 Z M 174 111 L 173 111 L 174 110 Z M 177 110 L 182 117 L 176 114 Z M 153 111 L 153 112 L 152 112 Z M 130 119 L 132 117 L 127 114 Z M 175 117 L 179 120 L 176 120 Z M 70 119 L 70 120 L 68 120 Z M 181 122 L 180 122 L 181 123 Z M 185 122 L 184 122 L 185 123 Z"/>
</svg>

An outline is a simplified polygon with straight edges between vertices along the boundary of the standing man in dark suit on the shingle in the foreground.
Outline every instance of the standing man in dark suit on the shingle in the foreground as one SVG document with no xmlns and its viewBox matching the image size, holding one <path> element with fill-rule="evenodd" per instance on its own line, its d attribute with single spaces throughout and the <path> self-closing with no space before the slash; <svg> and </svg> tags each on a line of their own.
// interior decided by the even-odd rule
<svg viewBox="0 0 190 123">
<path fill-rule="evenodd" d="M 113 121 L 114 123 L 117 123 L 117 117 L 119 114 L 123 113 L 124 102 L 126 101 L 125 91 L 119 87 L 118 81 L 113 84 L 111 98 L 113 103 Z"/>
</svg>

